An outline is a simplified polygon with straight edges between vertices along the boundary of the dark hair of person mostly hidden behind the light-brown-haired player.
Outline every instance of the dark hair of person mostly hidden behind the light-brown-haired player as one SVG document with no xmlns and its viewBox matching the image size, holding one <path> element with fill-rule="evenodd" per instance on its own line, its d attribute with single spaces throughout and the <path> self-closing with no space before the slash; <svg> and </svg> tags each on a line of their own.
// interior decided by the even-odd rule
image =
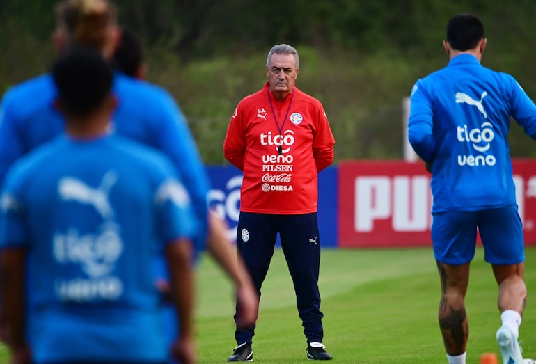
<svg viewBox="0 0 536 364">
<path fill-rule="evenodd" d="M 136 77 L 143 64 L 143 58 L 143 46 L 139 38 L 130 29 L 123 29 L 119 45 L 113 54 L 114 68 L 131 77 Z"/>
</svg>

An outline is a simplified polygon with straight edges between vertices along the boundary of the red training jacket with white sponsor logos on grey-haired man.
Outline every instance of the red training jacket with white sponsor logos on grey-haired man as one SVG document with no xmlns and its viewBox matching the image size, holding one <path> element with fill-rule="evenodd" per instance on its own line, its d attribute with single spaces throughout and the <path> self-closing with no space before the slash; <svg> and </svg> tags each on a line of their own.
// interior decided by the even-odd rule
<svg viewBox="0 0 536 364">
<path fill-rule="evenodd" d="M 278 101 L 267 82 L 244 97 L 223 142 L 225 157 L 244 172 L 240 211 L 317 212 L 317 173 L 333 162 L 334 144 L 322 104 L 298 88 Z"/>
</svg>

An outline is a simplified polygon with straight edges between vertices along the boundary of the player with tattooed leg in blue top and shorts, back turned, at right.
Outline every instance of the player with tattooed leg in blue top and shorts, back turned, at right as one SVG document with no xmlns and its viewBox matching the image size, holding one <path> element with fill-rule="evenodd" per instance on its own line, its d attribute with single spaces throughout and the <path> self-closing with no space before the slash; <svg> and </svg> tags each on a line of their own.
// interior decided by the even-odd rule
<svg viewBox="0 0 536 364">
<path fill-rule="evenodd" d="M 512 117 L 536 139 L 536 106 L 512 76 L 480 64 L 486 43 L 478 17 L 450 18 L 443 41 L 450 62 L 413 86 L 408 137 L 432 173 L 439 328 L 448 363 L 466 363 L 464 299 L 477 231 L 498 284 L 502 324 L 496 339 L 503 363 L 534 363 L 523 361 L 518 343 L 527 289 L 507 134 Z"/>
</svg>

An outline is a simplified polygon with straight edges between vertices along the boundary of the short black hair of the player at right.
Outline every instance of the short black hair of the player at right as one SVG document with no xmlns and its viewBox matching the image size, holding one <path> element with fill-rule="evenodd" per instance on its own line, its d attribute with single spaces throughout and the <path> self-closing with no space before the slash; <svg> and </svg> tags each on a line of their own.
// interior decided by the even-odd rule
<svg viewBox="0 0 536 364">
<path fill-rule="evenodd" d="M 447 24 L 447 42 L 458 51 L 473 49 L 484 38 L 484 24 L 472 14 L 457 14 Z"/>
</svg>

